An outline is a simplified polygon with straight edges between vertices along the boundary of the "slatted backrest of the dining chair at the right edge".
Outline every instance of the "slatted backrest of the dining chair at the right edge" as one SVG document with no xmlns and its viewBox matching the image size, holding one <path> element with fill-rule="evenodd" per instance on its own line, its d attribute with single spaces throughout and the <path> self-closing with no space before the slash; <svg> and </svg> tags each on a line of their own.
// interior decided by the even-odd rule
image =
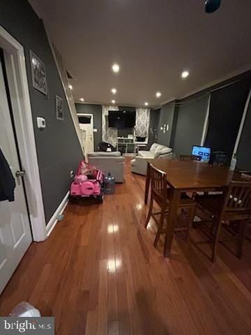
<svg viewBox="0 0 251 335">
<path fill-rule="evenodd" d="M 251 181 L 231 181 L 225 211 L 251 212 Z"/>
</svg>

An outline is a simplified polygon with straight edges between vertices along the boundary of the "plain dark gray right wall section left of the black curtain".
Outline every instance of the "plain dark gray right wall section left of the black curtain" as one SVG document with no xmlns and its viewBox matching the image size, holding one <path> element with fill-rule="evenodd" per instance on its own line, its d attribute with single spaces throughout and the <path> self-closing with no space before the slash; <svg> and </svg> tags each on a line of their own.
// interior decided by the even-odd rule
<svg viewBox="0 0 251 335">
<path fill-rule="evenodd" d="M 176 130 L 174 135 L 174 154 L 191 154 L 193 144 L 199 145 L 206 118 L 208 96 L 197 100 L 179 102 Z"/>
</svg>

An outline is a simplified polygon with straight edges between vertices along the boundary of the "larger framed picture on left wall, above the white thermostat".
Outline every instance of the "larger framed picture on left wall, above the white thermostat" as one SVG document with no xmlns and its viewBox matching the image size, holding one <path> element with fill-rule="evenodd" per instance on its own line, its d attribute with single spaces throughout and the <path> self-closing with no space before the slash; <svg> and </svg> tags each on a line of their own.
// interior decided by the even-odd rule
<svg viewBox="0 0 251 335">
<path fill-rule="evenodd" d="M 33 87 L 47 95 L 45 64 L 43 64 L 43 61 L 41 61 L 41 59 L 39 59 L 38 56 L 36 56 L 36 54 L 34 54 L 32 51 L 30 51 L 30 54 Z"/>
</svg>

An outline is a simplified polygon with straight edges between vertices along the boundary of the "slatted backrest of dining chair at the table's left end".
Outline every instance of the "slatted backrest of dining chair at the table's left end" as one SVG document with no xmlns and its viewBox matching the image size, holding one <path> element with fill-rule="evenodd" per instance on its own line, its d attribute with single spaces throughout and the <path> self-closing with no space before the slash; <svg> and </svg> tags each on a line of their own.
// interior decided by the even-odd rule
<svg viewBox="0 0 251 335">
<path fill-rule="evenodd" d="M 160 200 L 167 199 L 167 175 L 150 164 L 151 191 Z"/>
</svg>

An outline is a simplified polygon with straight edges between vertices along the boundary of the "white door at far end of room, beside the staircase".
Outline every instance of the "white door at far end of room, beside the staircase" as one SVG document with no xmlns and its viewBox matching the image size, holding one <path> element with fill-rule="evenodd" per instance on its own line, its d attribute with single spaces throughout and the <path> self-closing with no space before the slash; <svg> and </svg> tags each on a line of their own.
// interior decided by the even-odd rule
<svg viewBox="0 0 251 335">
<path fill-rule="evenodd" d="M 79 119 L 79 127 L 83 131 L 86 131 L 84 152 L 89 154 L 94 151 L 94 141 L 93 141 L 93 115 L 92 114 L 77 114 Z"/>
</svg>

